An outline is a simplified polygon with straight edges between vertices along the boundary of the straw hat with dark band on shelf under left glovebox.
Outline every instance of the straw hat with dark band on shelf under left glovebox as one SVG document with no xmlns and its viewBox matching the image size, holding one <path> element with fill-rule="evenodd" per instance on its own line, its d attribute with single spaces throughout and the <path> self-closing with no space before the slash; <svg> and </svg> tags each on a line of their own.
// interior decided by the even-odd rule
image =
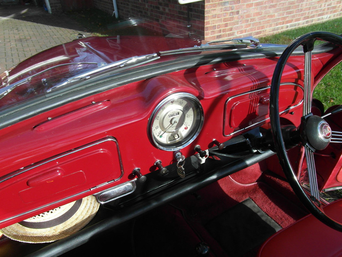
<svg viewBox="0 0 342 257">
<path fill-rule="evenodd" d="M 0 230 L 17 241 L 47 243 L 62 239 L 81 230 L 99 209 L 92 195 L 53 210 L 23 220 Z"/>
</svg>

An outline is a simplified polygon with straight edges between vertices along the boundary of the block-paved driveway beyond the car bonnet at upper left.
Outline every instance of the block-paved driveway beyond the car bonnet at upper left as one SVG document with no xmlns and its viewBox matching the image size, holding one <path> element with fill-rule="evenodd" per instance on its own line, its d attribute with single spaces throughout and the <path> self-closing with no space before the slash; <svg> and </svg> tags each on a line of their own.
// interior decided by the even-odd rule
<svg viewBox="0 0 342 257">
<path fill-rule="evenodd" d="M 0 5 L 0 73 L 50 47 L 91 36 L 64 14 L 34 5 Z"/>
</svg>

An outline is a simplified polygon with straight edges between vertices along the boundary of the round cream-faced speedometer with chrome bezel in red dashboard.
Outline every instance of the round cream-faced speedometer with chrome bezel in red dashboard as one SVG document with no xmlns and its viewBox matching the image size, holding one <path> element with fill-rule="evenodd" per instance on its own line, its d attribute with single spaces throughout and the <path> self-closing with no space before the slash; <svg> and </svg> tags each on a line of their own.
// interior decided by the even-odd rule
<svg viewBox="0 0 342 257">
<path fill-rule="evenodd" d="M 161 101 L 149 121 L 149 134 L 159 148 L 174 151 L 189 145 L 203 125 L 203 109 L 190 93 L 174 93 Z"/>
</svg>

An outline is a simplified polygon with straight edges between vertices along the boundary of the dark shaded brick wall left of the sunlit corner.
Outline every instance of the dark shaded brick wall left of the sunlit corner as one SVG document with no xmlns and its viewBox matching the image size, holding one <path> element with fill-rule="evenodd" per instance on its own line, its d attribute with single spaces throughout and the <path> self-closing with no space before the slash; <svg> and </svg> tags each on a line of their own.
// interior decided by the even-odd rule
<svg viewBox="0 0 342 257">
<path fill-rule="evenodd" d="M 164 35 L 182 34 L 203 38 L 204 1 L 179 4 L 178 0 L 117 0 L 119 17 L 142 18 L 150 21 L 149 28 Z M 112 0 L 93 0 L 96 8 L 113 13 Z M 189 18 L 188 18 L 189 8 Z M 190 25 L 190 26 L 189 26 Z M 194 35 L 193 35 L 194 34 Z"/>
</svg>

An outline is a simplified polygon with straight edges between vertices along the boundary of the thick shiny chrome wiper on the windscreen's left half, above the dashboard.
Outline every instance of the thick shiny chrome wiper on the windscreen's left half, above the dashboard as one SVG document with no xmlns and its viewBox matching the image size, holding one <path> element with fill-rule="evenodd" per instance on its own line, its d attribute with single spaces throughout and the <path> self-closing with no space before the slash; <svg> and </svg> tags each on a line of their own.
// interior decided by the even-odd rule
<svg viewBox="0 0 342 257">
<path fill-rule="evenodd" d="M 50 93 L 54 90 L 60 89 L 66 85 L 70 85 L 76 82 L 79 82 L 80 80 L 85 80 L 97 75 L 102 74 L 103 72 L 108 72 L 108 71 L 112 71 L 112 70 L 117 70 L 117 69 L 121 69 L 124 67 L 135 67 L 138 65 L 142 65 L 145 63 L 149 63 L 152 62 L 154 60 L 159 59 L 160 57 L 158 56 L 157 53 L 152 53 L 152 54 L 146 54 L 146 55 L 141 55 L 141 56 L 133 56 L 133 57 L 129 57 L 127 59 L 123 59 L 117 62 L 113 62 L 113 63 L 109 63 L 107 65 L 98 67 L 97 69 L 93 69 L 93 70 L 89 70 L 85 73 L 82 73 L 80 75 L 74 76 L 69 78 L 67 81 L 55 85 L 53 87 L 51 87 L 50 89 L 46 90 L 46 93 Z"/>
</svg>

